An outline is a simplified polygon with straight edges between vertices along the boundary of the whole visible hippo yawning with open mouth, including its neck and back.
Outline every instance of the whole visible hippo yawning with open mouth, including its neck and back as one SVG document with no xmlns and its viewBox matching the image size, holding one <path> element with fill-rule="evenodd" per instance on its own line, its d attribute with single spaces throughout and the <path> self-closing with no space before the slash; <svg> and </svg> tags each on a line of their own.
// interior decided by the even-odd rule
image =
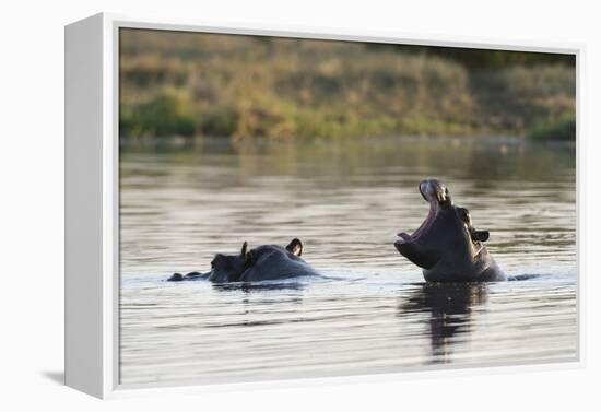
<svg viewBox="0 0 601 412">
<path fill-rule="evenodd" d="M 486 250 L 488 232 L 476 231 L 467 209 L 455 207 L 448 189 L 436 179 L 420 184 L 429 213 L 412 235 L 400 233 L 394 247 L 423 268 L 432 282 L 493 282 L 505 274 Z"/>
</svg>

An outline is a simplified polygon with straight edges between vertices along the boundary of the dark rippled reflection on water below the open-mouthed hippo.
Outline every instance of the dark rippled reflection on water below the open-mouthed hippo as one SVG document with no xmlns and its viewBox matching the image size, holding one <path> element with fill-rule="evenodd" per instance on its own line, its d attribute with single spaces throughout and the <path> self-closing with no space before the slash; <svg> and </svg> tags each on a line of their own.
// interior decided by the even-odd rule
<svg viewBox="0 0 601 412">
<path fill-rule="evenodd" d="M 403 296 L 397 315 L 428 313 L 432 363 L 447 363 L 457 338 L 471 332 L 472 308 L 487 299 L 485 283 L 423 283 Z"/>
</svg>

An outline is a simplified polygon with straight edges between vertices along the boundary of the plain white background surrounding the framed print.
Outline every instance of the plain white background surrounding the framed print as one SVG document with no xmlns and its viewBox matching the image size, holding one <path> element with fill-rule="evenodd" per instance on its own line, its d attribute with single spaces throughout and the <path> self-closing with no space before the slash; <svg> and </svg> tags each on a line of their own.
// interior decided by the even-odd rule
<svg viewBox="0 0 601 412">
<path fill-rule="evenodd" d="M 178 411 L 213 410 L 592 410 L 599 407 L 600 287 L 592 259 L 599 219 L 598 93 L 601 93 L 601 25 L 593 1 L 295 0 L 4 1 L 0 5 L 0 409 Z M 582 370 L 528 374 L 476 373 L 460 378 L 403 380 L 202 397 L 102 403 L 61 387 L 63 365 L 63 25 L 98 11 L 219 22 L 351 27 L 474 39 L 574 42 L 587 45 L 581 125 L 584 174 L 590 183 L 584 254 L 587 271 L 589 366 Z M 597 123 L 597 125 L 593 125 Z M 8 146 L 7 146 L 8 143 Z M 8 262 L 8 266 L 7 266 Z M 585 262 L 587 263 L 587 262 Z M 597 379 L 597 382 L 593 382 Z M 13 404 L 12 408 L 7 408 Z"/>
</svg>

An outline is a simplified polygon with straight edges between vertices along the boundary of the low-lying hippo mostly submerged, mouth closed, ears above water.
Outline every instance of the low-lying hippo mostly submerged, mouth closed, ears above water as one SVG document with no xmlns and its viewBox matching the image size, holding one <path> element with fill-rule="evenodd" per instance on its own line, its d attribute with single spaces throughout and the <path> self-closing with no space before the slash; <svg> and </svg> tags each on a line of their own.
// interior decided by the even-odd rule
<svg viewBox="0 0 601 412">
<path fill-rule="evenodd" d="M 303 244 L 293 239 L 288 246 L 263 245 L 247 250 L 245 242 L 239 255 L 217 254 L 211 261 L 211 271 L 191 272 L 186 275 L 174 273 L 168 281 L 210 280 L 211 282 L 256 282 L 287 279 L 318 273 L 307 264 L 300 255 Z"/>
</svg>

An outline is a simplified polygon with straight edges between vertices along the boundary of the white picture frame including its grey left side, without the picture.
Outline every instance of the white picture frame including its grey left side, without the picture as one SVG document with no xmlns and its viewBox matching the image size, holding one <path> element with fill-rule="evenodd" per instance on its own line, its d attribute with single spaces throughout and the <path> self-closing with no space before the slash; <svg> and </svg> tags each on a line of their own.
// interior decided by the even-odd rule
<svg viewBox="0 0 601 412">
<path fill-rule="evenodd" d="M 66 26 L 66 385 L 98 398 L 162 392 L 199 392 L 273 388 L 323 382 L 378 381 L 422 375 L 499 373 L 478 367 L 285 381 L 225 384 L 179 388 L 132 389 L 119 385 L 119 199 L 118 199 L 118 33 L 121 27 L 199 33 L 273 35 L 317 39 L 476 47 L 574 54 L 577 67 L 577 125 L 581 125 L 582 45 L 480 42 L 453 36 L 316 30 L 157 20 L 101 13 Z M 580 210 L 582 137 L 577 127 L 577 248 L 581 249 Z M 579 255 L 579 252 L 578 252 Z M 545 370 L 584 366 L 584 294 L 586 279 L 578 256 L 578 351 L 557 364 L 516 364 L 504 370 Z"/>
</svg>

